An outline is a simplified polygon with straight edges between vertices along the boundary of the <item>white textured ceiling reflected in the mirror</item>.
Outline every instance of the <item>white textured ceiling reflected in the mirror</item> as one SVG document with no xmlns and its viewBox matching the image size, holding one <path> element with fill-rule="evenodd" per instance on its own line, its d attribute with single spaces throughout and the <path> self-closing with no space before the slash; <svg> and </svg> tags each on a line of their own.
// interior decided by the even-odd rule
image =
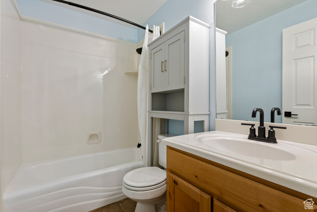
<svg viewBox="0 0 317 212">
<path fill-rule="evenodd" d="M 251 0 L 244 7 L 233 8 L 233 0 L 217 0 L 216 27 L 229 34 L 304 1 L 307 0 Z"/>
</svg>

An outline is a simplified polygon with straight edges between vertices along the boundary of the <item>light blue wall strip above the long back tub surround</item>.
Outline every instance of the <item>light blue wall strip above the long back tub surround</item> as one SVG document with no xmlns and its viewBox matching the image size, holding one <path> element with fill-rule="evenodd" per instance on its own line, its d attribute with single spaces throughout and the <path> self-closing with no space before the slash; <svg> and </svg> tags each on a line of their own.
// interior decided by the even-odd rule
<svg viewBox="0 0 317 212">
<path fill-rule="evenodd" d="M 137 30 L 41 0 L 16 0 L 20 13 L 55 24 L 137 43 Z M 144 36 L 143 36 L 144 37 Z"/>
</svg>

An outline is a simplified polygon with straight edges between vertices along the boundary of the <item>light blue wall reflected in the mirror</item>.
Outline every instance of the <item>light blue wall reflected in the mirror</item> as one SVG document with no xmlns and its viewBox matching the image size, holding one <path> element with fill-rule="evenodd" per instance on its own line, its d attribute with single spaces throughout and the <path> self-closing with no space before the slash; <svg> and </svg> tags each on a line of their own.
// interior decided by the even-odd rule
<svg viewBox="0 0 317 212">
<path fill-rule="evenodd" d="M 282 109 L 282 31 L 317 17 L 317 1 L 307 0 L 255 24 L 226 35 L 232 46 L 232 118 L 251 118 L 256 107 L 270 121 L 272 107 Z M 275 121 L 282 121 L 275 115 Z"/>
</svg>

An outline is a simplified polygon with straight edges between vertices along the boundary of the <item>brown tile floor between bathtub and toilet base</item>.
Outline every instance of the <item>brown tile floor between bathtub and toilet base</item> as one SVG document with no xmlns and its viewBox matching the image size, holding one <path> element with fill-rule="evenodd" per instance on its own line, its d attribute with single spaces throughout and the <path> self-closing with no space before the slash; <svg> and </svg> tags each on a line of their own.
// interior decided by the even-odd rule
<svg viewBox="0 0 317 212">
<path fill-rule="evenodd" d="M 89 212 L 134 212 L 136 205 L 136 202 L 126 198 L 118 202 L 113 202 L 109 205 L 91 210 Z"/>
</svg>

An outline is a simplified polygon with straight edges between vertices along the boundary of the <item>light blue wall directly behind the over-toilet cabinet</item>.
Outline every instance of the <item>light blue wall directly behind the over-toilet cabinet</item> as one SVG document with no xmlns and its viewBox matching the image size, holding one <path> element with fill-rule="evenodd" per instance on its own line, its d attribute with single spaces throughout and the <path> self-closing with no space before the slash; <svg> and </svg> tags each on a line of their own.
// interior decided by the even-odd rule
<svg viewBox="0 0 317 212">
<path fill-rule="evenodd" d="M 159 25 L 165 23 L 165 31 L 171 29 L 174 25 L 188 16 L 195 17 L 210 27 L 210 62 L 209 62 L 209 130 L 215 130 L 216 118 L 216 56 L 215 56 L 215 0 L 168 0 L 159 8 L 146 22 L 143 24 Z M 138 41 L 144 38 L 144 30 L 138 29 Z M 197 126 L 197 123 L 196 123 Z M 198 126 L 196 127 L 198 128 Z M 169 120 L 168 133 L 179 134 L 184 133 L 184 122 L 177 120 Z"/>
</svg>

